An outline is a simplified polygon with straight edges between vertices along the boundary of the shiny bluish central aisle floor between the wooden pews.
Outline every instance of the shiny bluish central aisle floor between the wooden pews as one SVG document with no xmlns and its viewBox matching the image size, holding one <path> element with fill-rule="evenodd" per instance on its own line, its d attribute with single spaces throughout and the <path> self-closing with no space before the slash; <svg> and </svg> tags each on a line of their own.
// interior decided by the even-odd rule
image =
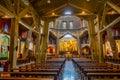
<svg viewBox="0 0 120 80">
<path fill-rule="evenodd" d="M 62 80 L 79 80 L 78 73 L 75 70 L 72 61 L 66 61 L 64 71 L 62 74 Z"/>
</svg>

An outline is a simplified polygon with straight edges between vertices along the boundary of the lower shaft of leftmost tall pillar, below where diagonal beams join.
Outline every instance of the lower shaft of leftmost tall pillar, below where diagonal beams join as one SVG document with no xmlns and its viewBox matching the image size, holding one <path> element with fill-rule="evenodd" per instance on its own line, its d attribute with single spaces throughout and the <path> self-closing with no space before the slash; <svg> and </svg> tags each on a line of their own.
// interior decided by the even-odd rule
<svg viewBox="0 0 120 80">
<path fill-rule="evenodd" d="M 10 34 L 10 52 L 9 52 L 9 67 L 16 68 L 17 63 L 17 42 L 18 42 L 18 28 L 19 23 L 16 18 L 11 19 L 11 34 Z"/>
</svg>

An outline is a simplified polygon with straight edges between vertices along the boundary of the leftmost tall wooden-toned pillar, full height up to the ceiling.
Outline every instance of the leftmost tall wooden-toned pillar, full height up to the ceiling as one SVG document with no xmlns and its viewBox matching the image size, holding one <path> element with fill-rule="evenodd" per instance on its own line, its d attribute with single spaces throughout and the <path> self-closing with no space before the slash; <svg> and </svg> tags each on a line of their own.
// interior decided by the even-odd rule
<svg viewBox="0 0 120 80">
<path fill-rule="evenodd" d="M 14 18 L 11 19 L 11 33 L 10 33 L 10 51 L 9 51 L 9 69 L 16 68 L 17 63 L 17 49 L 18 49 L 18 29 L 19 29 L 19 9 L 20 0 L 13 2 L 14 8 L 11 11 L 14 14 Z"/>
</svg>

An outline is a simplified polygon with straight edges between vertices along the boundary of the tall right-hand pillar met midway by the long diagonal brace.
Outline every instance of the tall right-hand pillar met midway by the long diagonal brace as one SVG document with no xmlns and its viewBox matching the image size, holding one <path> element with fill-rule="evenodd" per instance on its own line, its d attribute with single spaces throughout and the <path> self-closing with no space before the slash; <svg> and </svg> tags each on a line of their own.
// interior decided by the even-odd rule
<svg viewBox="0 0 120 80">
<path fill-rule="evenodd" d="M 104 9 L 103 13 L 97 15 L 97 24 L 99 27 L 99 31 L 104 28 L 106 25 L 106 13 L 107 13 L 107 7 L 106 3 L 104 4 Z M 99 62 L 104 62 L 104 55 L 103 55 L 103 39 L 102 39 L 102 33 L 98 32 L 97 33 L 97 38 L 98 38 L 98 53 L 99 53 Z"/>
</svg>

